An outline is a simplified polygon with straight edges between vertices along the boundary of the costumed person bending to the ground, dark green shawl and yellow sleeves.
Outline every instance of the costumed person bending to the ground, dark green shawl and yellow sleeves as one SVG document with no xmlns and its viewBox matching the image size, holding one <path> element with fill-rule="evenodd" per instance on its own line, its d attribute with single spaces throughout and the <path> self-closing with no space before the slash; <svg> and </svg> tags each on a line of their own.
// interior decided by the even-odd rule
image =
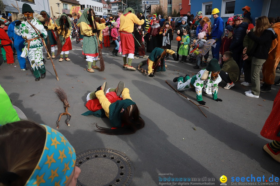
<svg viewBox="0 0 280 186">
<path fill-rule="evenodd" d="M 176 61 L 176 54 L 173 50 L 166 49 L 165 46 L 162 48 L 155 48 L 148 57 L 148 60 L 141 61 L 138 65 L 138 70 L 140 67 L 148 63 L 148 74 L 149 77 L 155 77 L 154 74 L 159 71 L 165 71 L 167 65 L 165 65 L 165 55 L 171 54 L 174 61 Z"/>
</svg>

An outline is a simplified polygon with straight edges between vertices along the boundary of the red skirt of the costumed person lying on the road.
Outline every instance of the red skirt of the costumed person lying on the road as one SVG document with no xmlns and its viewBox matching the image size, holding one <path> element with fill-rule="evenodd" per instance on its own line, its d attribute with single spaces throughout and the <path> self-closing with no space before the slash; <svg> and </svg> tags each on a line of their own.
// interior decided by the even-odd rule
<svg viewBox="0 0 280 186">
<path fill-rule="evenodd" d="M 115 92 L 108 92 L 105 96 L 110 103 L 114 103 L 117 100 L 122 100 L 122 98 L 120 96 L 117 96 Z M 88 100 L 86 107 L 88 108 L 88 110 L 91 110 L 92 112 L 95 112 L 102 108 L 97 98 L 93 100 Z"/>
</svg>

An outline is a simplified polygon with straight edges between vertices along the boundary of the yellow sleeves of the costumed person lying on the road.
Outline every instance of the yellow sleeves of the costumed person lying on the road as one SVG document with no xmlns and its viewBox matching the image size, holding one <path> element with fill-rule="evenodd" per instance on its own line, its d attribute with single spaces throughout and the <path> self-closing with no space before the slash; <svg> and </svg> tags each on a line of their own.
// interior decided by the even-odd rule
<svg viewBox="0 0 280 186">
<path fill-rule="evenodd" d="M 109 100 L 106 98 L 103 90 L 99 90 L 99 91 L 95 92 L 95 96 L 99 100 L 99 103 L 101 104 L 101 107 L 104 109 L 106 116 L 109 118 L 109 106 L 111 105 L 111 102 L 109 102 Z M 128 88 L 123 89 L 122 98 L 123 98 L 123 100 L 125 100 L 125 99 L 132 100 L 130 98 Z"/>
</svg>

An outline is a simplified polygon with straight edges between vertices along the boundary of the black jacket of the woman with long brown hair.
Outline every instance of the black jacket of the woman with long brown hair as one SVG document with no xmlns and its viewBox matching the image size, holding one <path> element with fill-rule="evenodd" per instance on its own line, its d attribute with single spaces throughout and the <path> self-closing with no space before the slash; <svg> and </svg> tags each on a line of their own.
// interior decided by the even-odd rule
<svg viewBox="0 0 280 186">
<path fill-rule="evenodd" d="M 277 38 L 277 34 L 270 28 L 270 30 L 264 30 L 260 37 L 257 37 L 253 32 L 249 32 L 248 37 L 255 42 L 250 55 L 260 59 L 267 59 L 272 40 Z"/>
</svg>

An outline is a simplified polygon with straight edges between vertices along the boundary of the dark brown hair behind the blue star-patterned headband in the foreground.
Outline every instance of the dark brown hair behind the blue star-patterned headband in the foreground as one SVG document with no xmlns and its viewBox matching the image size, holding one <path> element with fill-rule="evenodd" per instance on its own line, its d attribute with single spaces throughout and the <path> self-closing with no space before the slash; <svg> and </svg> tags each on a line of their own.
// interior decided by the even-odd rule
<svg viewBox="0 0 280 186">
<path fill-rule="evenodd" d="M 32 121 L 0 127 L 0 185 L 23 186 L 36 167 L 46 141 L 45 129 Z"/>
</svg>

